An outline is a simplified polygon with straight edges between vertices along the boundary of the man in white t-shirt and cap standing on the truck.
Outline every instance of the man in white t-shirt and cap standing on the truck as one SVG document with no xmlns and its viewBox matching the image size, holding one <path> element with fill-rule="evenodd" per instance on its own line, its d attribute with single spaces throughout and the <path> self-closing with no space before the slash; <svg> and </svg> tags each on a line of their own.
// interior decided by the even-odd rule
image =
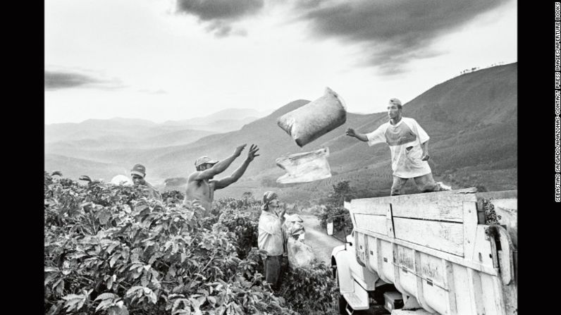
<svg viewBox="0 0 561 315">
<path fill-rule="evenodd" d="M 429 135 L 413 118 L 402 116 L 399 99 L 388 103 L 390 121 L 383 123 L 373 132 L 362 134 L 348 128 L 346 134 L 368 142 L 369 146 L 386 142 L 392 154 L 393 185 L 390 195 L 401 194 L 401 188 L 409 178 L 413 178 L 421 192 L 450 190 L 443 183 L 435 183 L 429 160 Z"/>
</svg>

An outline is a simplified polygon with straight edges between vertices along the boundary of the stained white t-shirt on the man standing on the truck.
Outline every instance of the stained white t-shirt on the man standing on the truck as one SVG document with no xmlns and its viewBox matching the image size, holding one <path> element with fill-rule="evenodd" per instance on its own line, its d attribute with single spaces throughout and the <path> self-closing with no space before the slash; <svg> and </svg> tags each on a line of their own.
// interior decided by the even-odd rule
<svg viewBox="0 0 561 315">
<path fill-rule="evenodd" d="M 392 152 L 393 175 L 400 178 L 415 178 L 431 173 L 427 161 L 421 161 L 421 143 L 430 139 L 425 130 L 413 118 L 402 117 L 392 125 L 390 121 L 366 134 L 368 145 L 386 142 Z"/>
</svg>

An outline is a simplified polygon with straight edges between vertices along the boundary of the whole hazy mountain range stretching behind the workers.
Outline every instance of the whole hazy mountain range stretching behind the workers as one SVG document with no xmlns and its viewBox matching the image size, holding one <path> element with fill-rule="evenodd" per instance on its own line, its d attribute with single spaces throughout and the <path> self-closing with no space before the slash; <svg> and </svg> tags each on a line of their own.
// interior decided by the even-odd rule
<svg viewBox="0 0 561 315">
<path fill-rule="evenodd" d="M 344 125 L 300 148 L 276 120 L 308 102 L 298 99 L 261 117 L 251 110 L 227 109 L 214 116 L 160 124 L 115 118 L 46 125 L 45 170 L 61 171 L 70 178 L 90 175 L 110 180 L 113 175 L 128 174 L 134 163 L 144 163 L 150 183 L 161 190 L 184 190 L 184 186 L 164 187 L 164 181 L 187 177 L 195 171 L 193 163 L 199 156 L 224 159 L 236 146 L 247 143 L 248 147 L 257 144 L 260 156 L 238 183 L 216 192 L 217 198 L 240 197 L 243 192 L 260 196 L 265 190 L 276 190 L 287 202 L 310 201 L 325 196 L 339 180 L 349 180 L 363 197 L 389 194 L 392 171 L 387 144 L 369 147 L 345 136 L 347 128 L 363 133 L 375 130 L 388 121 L 387 114 L 347 113 Z M 431 137 L 429 164 L 436 180 L 453 188 L 517 189 L 517 63 L 440 83 L 404 104 L 403 116 L 417 120 Z M 275 183 L 283 175 L 275 163 L 278 157 L 320 147 L 329 147 L 331 152 L 331 178 Z M 221 175 L 233 172 L 246 152 Z M 413 183 L 406 190 L 416 192 Z"/>
</svg>

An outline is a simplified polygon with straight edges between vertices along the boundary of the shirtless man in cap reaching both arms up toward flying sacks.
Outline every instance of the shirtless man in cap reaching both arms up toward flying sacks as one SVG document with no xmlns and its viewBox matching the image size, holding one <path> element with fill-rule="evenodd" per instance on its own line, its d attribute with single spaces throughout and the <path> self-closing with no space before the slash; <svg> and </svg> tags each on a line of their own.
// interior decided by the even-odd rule
<svg viewBox="0 0 561 315">
<path fill-rule="evenodd" d="M 187 178 L 187 191 L 185 192 L 184 204 L 197 200 L 202 207 L 209 213 L 212 209 L 212 201 L 214 200 L 214 190 L 226 188 L 235 183 L 249 166 L 259 148 L 257 145 L 252 144 L 247 152 L 247 158 L 243 161 L 242 165 L 232 173 L 232 175 L 221 178 L 220 180 L 213 180 L 214 176 L 226 171 L 226 168 L 242 153 L 247 144 L 242 144 L 240 147 L 235 148 L 234 154 L 228 156 L 222 161 L 210 159 L 208 156 L 201 156 L 195 161 L 195 168 L 197 171 L 191 173 Z"/>
</svg>

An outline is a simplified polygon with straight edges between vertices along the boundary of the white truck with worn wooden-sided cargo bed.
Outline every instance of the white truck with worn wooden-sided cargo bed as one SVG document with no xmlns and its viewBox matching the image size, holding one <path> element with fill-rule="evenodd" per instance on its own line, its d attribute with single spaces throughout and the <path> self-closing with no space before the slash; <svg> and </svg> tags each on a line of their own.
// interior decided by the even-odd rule
<svg viewBox="0 0 561 315">
<path fill-rule="evenodd" d="M 517 314 L 517 190 L 344 206 L 352 232 L 331 254 L 340 314 Z"/>
</svg>

